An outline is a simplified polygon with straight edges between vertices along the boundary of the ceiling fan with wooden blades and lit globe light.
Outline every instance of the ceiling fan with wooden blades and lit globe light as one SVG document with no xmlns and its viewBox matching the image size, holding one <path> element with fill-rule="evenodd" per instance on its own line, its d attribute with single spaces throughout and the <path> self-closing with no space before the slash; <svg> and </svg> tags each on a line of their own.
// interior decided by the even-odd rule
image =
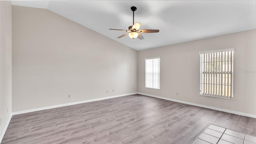
<svg viewBox="0 0 256 144">
<path fill-rule="evenodd" d="M 122 36 L 119 36 L 118 38 L 122 38 L 126 35 L 129 35 L 129 37 L 132 38 L 132 39 L 139 38 L 140 40 L 143 40 L 144 37 L 140 33 L 159 32 L 159 30 L 149 30 L 149 29 L 139 30 L 141 24 L 139 22 L 135 22 L 135 24 L 134 24 L 134 11 L 137 10 L 137 8 L 135 6 L 132 6 L 131 10 L 133 11 L 133 23 L 132 23 L 133 25 L 129 26 L 128 30 L 120 30 L 120 31 L 126 31 L 128 33 L 123 34 Z M 119 29 L 110 28 L 109 30 L 119 30 Z"/>
</svg>

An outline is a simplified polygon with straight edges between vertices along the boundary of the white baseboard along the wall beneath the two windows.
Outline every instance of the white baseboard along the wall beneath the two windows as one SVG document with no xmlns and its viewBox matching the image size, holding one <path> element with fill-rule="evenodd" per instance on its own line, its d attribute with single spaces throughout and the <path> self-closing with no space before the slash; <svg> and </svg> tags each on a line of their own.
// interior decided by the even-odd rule
<svg viewBox="0 0 256 144">
<path fill-rule="evenodd" d="M 248 114 L 248 113 L 244 113 L 244 112 L 237 112 L 237 111 L 234 111 L 234 110 L 227 110 L 227 109 L 224 109 L 224 108 L 216 108 L 216 107 L 213 107 L 213 106 L 206 106 L 206 105 L 202 105 L 202 104 L 195 104 L 195 103 L 192 103 L 192 102 L 185 102 L 185 101 L 182 101 L 182 100 L 174 100 L 174 99 L 171 99 L 171 98 L 155 96 L 155 95 L 152 95 L 152 94 L 144 94 L 144 93 L 141 93 L 141 92 L 138 92 L 138 94 L 145 95 L 145 96 L 151 96 L 151 97 L 154 97 L 154 98 L 160 98 L 160 99 L 164 99 L 164 100 L 170 100 L 170 101 L 173 101 L 173 102 L 180 102 L 180 103 L 189 104 L 189 105 L 192 105 L 192 106 L 199 106 L 199 107 L 202 107 L 202 108 L 218 110 L 218 111 L 221 111 L 221 112 L 228 112 L 228 113 L 231 113 L 231 114 L 238 114 L 238 115 L 241 115 L 241 116 L 248 116 L 248 117 L 251 117 L 251 118 L 256 118 L 256 115 L 254 115 L 254 114 Z"/>
</svg>

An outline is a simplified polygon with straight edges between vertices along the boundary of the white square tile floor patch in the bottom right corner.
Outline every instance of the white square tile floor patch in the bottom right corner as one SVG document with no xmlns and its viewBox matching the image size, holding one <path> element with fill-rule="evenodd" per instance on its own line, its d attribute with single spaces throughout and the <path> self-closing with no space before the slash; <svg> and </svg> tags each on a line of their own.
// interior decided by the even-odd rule
<svg viewBox="0 0 256 144">
<path fill-rule="evenodd" d="M 256 137 L 210 124 L 192 144 L 256 144 Z"/>
</svg>

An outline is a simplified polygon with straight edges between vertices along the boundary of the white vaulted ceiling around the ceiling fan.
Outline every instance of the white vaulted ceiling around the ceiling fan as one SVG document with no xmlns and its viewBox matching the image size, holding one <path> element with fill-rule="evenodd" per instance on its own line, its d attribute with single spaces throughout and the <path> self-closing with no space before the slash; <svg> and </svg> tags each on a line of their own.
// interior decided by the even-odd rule
<svg viewBox="0 0 256 144">
<path fill-rule="evenodd" d="M 256 28 L 256 0 L 67 0 L 12 1 L 12 5 L 45 8 L 135 50 L 145 50 Z M 144 40 L 117 38 L 134 22 Z"/>
</svg>

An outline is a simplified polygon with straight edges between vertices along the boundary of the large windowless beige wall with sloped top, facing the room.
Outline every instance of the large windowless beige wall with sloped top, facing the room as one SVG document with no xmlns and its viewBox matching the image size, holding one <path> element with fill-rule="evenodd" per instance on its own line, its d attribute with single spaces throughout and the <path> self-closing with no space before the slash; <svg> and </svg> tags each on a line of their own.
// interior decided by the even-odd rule
<svg viewBox="0 0 256 144">
<path fill-rule="evenodd" d="M 12 20 L 13 112 L 137 92 L 136 50 L 45 9 Z"/>
</svg>

